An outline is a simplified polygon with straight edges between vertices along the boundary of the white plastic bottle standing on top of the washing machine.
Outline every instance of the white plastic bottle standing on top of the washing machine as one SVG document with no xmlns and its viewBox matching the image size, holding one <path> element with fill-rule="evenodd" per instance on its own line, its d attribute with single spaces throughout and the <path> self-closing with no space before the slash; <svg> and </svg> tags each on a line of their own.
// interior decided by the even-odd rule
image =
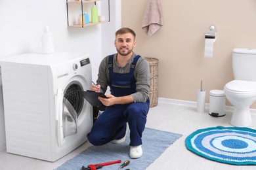
<svg viewBox="0 0 256 170">
<path fill-rule="evenodd" d="M 43 34 L 41 35 L 42 41 L 42 54 L 53 54 L 53 35 L 50 33 L 49 27 L 43 29 Z"/>
</svg>

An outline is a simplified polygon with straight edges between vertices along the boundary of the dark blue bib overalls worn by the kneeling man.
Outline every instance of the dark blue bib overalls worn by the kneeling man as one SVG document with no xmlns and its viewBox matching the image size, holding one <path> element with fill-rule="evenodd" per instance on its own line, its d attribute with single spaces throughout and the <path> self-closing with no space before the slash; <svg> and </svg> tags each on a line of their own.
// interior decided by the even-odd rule
<svg viewBox="0 0 256 170">
<path fill-rule="evenodd" d="M 136 56 L 131 64 L 129 73 L 113 72 L 114 55 L 109 56 L 108 69 L 110 72 L 110 92 L 119 97 L 137 92 L 134 77 L 135 65 L 140 58 Z M 130 103 L 127 105 L 113 105 L 106 107 L 104 112 L 93 124 L 87 138 L 91 144 L 98 146 L 109 143 L 115 139 L 121 139 L 126 134 L 127 122 L 130 128 L 130 146 L 142 144 L 142 132 L 146 124 L 146 116 L 150 107 L 149 99 L 144 103 Z"/>
</svg>

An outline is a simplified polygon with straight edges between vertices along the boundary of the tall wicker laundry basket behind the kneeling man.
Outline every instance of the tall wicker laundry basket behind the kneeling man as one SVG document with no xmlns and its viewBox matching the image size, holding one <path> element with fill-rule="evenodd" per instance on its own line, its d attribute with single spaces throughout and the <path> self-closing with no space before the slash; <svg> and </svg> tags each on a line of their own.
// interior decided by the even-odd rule
<svg viewBox="0 0 256 170">
<path fill-rule="evenodd" d="M 158 105 L 158 59 L 145 58 L 150 65 L 150 107 Z"/>
</svg>

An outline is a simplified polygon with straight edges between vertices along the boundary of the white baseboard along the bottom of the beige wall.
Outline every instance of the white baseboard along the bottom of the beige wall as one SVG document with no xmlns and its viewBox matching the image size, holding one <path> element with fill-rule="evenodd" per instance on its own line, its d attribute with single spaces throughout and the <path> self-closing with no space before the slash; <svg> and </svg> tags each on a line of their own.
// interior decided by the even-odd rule
<svg viewBox="0 0 256 170">
<path fill-rule="evenodd" d="M 177 99 L 167 99 L 163 97 L 158 98 L 158 102 L 160 103 L 169 103 L 173 105 L 184 105 L 189 107 L 196 107 L 196 101 L 184 101 L 184 100 L 177 100 Z M 209 109 L 209 103 L 205 103 L 205 109 Z M 226 112 L 233 112 L 234 107 L 225 106 Z M 251 114 L 256 114 L 256 109 L 250 109 Z"/>
</svg>

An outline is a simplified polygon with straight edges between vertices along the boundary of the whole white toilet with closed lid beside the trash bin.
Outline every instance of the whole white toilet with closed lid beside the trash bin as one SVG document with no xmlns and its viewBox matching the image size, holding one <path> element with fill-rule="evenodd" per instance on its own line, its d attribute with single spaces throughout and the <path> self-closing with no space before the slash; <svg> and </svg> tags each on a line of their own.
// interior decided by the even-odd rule
<svg viewBox="0 0 256 170">
<path fill-rule="evenodd" d="M 224 86 L 226 99 L 234 106 L 230 124 L 251 125 L 250 105 L 256 99 L 256 49 L 235 48 L 232 53 L 234 80 Z"/>
</svg>

